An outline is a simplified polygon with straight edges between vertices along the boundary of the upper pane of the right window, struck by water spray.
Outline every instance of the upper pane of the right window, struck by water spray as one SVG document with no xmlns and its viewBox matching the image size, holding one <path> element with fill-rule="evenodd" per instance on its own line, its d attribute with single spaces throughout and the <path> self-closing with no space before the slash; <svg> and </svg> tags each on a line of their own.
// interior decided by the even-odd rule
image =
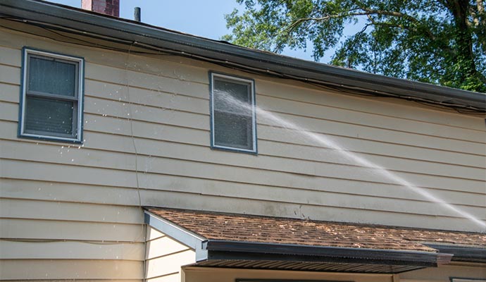
<svg viewBox="0 0 486 282">
<path fill-rule="evenodd" d="M 249 84 L 215 80 L 214 108 L 220 111 L 251 116 Z"/>
</svg>

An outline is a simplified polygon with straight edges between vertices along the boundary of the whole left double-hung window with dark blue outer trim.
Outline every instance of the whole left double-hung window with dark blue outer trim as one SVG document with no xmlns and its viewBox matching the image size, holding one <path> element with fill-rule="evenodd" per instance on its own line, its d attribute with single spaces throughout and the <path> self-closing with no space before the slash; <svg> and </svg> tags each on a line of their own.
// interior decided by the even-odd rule
<svg viewBox="0 0 486 282">
<path fill-rule="evenodd" d="M 82 141 L 84 59 L 23 49 L 19 136 Z"/>
</svg>

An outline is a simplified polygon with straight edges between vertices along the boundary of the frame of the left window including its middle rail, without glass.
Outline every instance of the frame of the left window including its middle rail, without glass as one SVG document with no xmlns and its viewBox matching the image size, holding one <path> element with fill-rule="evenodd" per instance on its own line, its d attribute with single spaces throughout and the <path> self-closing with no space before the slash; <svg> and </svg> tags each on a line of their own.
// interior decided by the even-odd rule
<svg viewBox="0 0 486 282">
<path fill-rule="evenodd" d="M 75 93 L 74 96 L 66 96 L 61 94 L 50 94 L 44 92 L 36 92 L 28 90 L 28 81 L 30 75 L 30 58 L 46 58 L 61 61 L 64 63 L 72 63 L 76 69 Z M 56 142 L 70 142 L 82 144 L 82 129 L 83 129 L 83 106 L 84 106 L 84 90 L 85 90 L 85 59 L 78 56 L 70 56 L 66 54 L 59 54 L 52 51 L 44 51 L 31 47 L 23 47 L 22 49 L 22 68 L 20 78 L 20 106 L 18 119 L 18 137 L 30 138 L 36 140 L 47 140 Z M 55 99 L 61 101 L 73 102 L 77 106 L 73 107 L 73 121 L 71 127 L 73 134 L 49 133 L 47 131 L 32 130 L 26 132 L 25 130 L 25 114 L 28 97 L 39 97 L 43 99 Z"/>
</svg>

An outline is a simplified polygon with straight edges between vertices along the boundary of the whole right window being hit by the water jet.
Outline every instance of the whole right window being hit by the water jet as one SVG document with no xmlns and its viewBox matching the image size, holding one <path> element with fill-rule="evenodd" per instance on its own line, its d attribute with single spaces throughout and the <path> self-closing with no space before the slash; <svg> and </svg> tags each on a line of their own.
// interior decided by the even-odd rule
<svg viewBox="0 0 486 282">
<path fill-rule="evenodd" d="M 211 147 L 256 154 L 254 81 L 211 73 Z"/>
</svg>

